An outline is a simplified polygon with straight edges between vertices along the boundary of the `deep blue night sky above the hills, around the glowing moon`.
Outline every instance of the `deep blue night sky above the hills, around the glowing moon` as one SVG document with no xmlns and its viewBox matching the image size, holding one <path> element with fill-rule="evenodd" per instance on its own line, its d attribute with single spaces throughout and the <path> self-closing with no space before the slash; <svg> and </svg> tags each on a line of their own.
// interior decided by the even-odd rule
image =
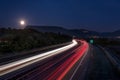
<svg viewBox="0 0 120 80">
<path fill-rule="evenodd" d="M 120 0 L 0 0 L 0 26 L 62 26 L 99 32 L 120 29 Z"/>
</svg>

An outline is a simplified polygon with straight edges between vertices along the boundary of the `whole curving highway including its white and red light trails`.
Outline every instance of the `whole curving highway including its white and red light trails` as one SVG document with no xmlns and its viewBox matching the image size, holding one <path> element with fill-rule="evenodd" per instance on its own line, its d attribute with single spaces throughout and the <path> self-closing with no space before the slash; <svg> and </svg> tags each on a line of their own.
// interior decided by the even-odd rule
<svg viewBox="0 0 120 80">
<path fill-rule="evenodd" d="M 120 80 L 105 51 L 83 40 L 0 66 L 0 80 Z"/>
</svg>

